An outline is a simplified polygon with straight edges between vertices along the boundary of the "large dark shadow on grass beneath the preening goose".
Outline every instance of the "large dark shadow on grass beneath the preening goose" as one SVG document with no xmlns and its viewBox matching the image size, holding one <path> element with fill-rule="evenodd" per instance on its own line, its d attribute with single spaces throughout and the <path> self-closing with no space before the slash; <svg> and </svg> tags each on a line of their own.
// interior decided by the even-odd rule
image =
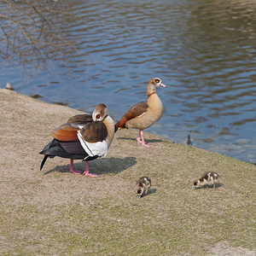
<svg viewBox="0 0 256 256">
<path fill-rule="evenodd" d="M 91 173 L 95 173 L 97 175 L 107 173 L 117 174 L 136 164 L 136 157 L 125 157 L 124 159 L 116 157 L 103 158 L 90 161 L 89 170 Z M 75 170 L 85 171 L 84 162 L 74 163 L 73 166 Z M 65 166 L 55 166 L 55 168 L 49 170 L 48 172 L 44 172 L 44 175 L 52 172 L 71 173 L 69 172 L 69 164 Z"/>
</svg>

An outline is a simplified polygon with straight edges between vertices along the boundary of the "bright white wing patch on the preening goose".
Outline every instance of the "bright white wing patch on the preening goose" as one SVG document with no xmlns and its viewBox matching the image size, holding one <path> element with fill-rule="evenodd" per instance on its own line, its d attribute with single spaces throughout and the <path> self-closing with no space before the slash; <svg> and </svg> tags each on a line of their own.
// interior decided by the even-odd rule
<svg viewBox="0 0 256 256">
<path fill-rule="evenodd" d="M 98 155 L 100 157 L 105 157 L 108 154 L 108 144 L 106 141 L 98 142 L 98 143 L 87 143 L 84 141 L 80 131 L 78 131 L 79 142 L 84 148 L 85 152 L 90 156 Z"/>
</svg>

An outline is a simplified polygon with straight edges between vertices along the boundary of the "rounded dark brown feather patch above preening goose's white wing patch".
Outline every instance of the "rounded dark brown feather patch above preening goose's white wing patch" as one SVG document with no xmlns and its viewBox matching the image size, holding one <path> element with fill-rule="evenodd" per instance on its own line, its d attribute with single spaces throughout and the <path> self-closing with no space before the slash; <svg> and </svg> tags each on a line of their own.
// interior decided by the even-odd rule
<svg viewBox="0 0 256 256">
<path fill-rule="evenodd" d="M 88 143 L 102 142 L 108 136 L 106 125 L 97 121 L 84 125 L 84 128 L 80 130 L 80 133 L 84 141 Z"/>
</svg>

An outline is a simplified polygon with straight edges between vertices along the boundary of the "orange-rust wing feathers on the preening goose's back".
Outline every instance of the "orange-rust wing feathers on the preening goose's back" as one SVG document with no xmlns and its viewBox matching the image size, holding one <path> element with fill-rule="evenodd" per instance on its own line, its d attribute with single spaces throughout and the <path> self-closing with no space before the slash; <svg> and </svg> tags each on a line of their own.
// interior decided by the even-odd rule
<svg viewBox="0 0 256 256">
<path fill-rule="evenodd" d="M 78 139 L 77 133 L 79 128 L 72 127 L 69 124 L 61 125 L 61 127 L 52 131 L 51 135 L 59 141 L 74 141 Z"/>
</svg>

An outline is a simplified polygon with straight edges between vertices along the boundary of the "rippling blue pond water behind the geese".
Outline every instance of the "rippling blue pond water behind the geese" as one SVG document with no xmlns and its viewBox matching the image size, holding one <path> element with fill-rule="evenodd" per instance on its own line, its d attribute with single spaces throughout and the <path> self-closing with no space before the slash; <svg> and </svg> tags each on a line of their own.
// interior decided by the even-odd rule
<svg viewBox="0 0 256 256">
<path fill-rule="evenodd" d="M 147 131 L 255 163 L 256 1 L 137 2 L 0 2 L 38 39 L 1 20 L 1 87 L 87 112 L 104 102 L 118 120 L 160 77 L 165 113 Z"/>
</svg>

